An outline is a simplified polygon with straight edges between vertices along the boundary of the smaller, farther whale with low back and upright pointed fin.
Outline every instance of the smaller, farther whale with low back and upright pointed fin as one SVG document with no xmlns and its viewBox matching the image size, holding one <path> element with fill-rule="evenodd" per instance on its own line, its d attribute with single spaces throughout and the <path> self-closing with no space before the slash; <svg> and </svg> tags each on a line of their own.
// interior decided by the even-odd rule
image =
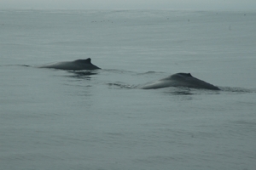
<svg viewBox="0 0 256 170">
<path fill-rule="evenodd" d="M 91 59 L 77 59 L 73 61 L 62 61 L 49 65 L 41 65 L 38 68 L 50 68 L 67 71 L 82 71 L 82 70 L 96 70 L 101 69 L 96 65 L 91 64 Z"/>
</svg>

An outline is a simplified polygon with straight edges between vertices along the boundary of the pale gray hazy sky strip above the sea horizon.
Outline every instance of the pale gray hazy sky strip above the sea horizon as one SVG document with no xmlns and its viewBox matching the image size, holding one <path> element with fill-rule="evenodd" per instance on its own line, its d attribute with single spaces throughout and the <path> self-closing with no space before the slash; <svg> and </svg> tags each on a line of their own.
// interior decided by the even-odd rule
<svg viewBox="0 0 256 170">
<path fill-rule="evenodd" d="M 0 0 L 0 8 L 256 10 L 256 0 Z"/>
</svg>

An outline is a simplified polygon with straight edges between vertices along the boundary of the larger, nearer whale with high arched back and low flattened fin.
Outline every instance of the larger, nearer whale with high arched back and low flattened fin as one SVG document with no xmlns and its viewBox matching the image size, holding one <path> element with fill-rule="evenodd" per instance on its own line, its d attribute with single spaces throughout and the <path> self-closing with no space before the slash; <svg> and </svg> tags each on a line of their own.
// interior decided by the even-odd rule
<svg viewBox="0 0 256 170">
<path fill-rule="evenodd" d="M 139 86 L 139 88 L 142 88 L 142 89 L 168 88 L 168 87 L 187 87 L 187 88 L 203 88 L 203 89 L 210 89 L 210 90 L 220 90 L 217 86 L 214 86 L 208 82 L 204 82 L 198 78 L 195 78 L 190 73 L 176 73 L 169 77 L 160 79 L 156 82 L 148 82 L 143 86 Z"/>
</svg>

